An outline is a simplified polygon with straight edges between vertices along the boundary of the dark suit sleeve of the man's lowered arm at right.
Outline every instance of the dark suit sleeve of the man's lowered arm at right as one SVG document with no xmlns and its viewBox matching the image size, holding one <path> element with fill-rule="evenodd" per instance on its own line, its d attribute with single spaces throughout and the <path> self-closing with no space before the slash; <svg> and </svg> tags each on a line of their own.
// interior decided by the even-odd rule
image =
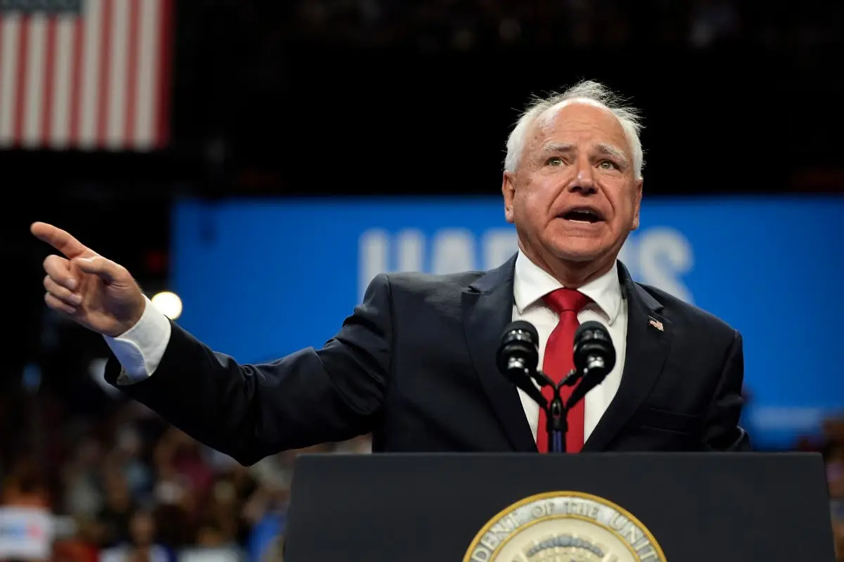
<svg viewBox="0 0 844 562">
<path fill-rule="evenodd" d="M 749 451 L 747 431 L 738 426 L 744 399 L 744 349 L 738 331 L 727 351 L 721 377 L 706 416 L 704 447 L 711 451 Z"/>
</svg>

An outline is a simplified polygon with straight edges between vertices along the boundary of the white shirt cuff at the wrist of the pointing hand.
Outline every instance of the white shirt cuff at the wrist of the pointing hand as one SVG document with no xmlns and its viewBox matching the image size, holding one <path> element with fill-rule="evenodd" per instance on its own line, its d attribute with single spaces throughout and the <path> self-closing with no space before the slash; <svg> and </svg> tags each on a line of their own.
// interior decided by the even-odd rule
<svg viewBox="0 0 844 562">
<path fill-rule="evenodd" d="M 170 343 L 172 326 L 149 298 L 138 323 L 116 338 L 103 336 L 111 352 L 123 367 L 117 384 L 139 383 L 158 368 Z"/>
</svg>

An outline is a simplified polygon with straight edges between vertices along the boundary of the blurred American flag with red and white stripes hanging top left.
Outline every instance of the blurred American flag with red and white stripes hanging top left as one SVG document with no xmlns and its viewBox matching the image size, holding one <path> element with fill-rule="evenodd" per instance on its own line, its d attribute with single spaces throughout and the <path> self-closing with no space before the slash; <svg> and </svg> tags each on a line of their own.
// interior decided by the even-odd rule
<svg viewBox="0 0 844 562">
<path fill-rule="evenodd" d="M 174 0 L 0 0 L 0 148 L 169 137 Z"/>
</svg>

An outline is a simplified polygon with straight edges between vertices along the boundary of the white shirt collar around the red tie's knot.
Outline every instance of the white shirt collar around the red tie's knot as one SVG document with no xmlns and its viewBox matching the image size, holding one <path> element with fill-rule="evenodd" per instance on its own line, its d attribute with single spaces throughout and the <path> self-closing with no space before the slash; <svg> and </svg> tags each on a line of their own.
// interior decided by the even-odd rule
<svg viewBox="0 0 844 562">
<path fill-rule="evenodd" d="M 534 264 L 527 255 L 519 250 L 516 257 L 516 271 L 513 279 L 513 297 L 516 301 L 516 308 L 519 314 L 525 309 L 536 304 L 549 292 L 560 289 L 563 285 L 547 271 Z M 577 289 L 592 299 L 598 310 L 603 313 L 609 325 L 618 318 L 621 308 L 621 283 L 617 266 L 607 271 L 603 276 L 589 281 L 586 285 Z"/>
</svg>

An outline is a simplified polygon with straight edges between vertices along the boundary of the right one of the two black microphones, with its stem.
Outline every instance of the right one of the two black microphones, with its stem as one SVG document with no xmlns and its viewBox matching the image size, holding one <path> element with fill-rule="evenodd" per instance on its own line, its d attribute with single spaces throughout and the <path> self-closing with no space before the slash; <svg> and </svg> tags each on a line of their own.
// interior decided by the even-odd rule
<svg viewBox="0 0 844 562">
<path fill-rule="evenodd" d="M 583 373 L 583 378 L 572 391 L 566 408 L 571 408 L 578 400 L 603 383 L 615 367 L 615 346 L 609 332 L 603 324 L 590 320 L 578 326 L 575 332 L 574 347 L 575 368 Z"/>
</svg>

